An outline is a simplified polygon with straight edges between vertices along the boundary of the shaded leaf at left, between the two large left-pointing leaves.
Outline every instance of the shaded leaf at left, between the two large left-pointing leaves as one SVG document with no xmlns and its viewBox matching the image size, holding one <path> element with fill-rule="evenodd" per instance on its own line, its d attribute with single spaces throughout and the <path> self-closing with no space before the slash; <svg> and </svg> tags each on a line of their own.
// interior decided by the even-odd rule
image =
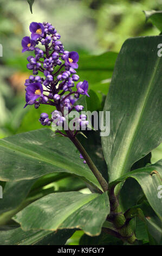
<svg viewBox="0 0 162 256">
<path fill-rule="evenodd" d="M 34 179 L 4 183 L 6 185 L 3 189 L 3 199 L 0 200 L 0 225 L 7 224 L 17 212 L 47 194 L 86 188 L 85 182 L 78 176 L 67 173 L 47 174 L 36 181 Z"/>
</svg>

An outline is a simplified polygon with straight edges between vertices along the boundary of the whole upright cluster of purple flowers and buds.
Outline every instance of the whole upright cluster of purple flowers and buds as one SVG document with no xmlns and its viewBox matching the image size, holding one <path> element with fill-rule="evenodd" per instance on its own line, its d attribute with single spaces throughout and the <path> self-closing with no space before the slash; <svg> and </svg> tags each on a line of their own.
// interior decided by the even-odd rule
<svg viewBox="0 0 162 256">
<path fill-rule="evenodd" d="M 63 114 L 64 107 L 68 109 L 68 113 L 73 109 L 77 112 L 82 111 L 83 106 L 76 105 L 75 102 L 80 95 L 89 96 L 88 82 L 79 82 L 75 87 L 75 82 L 79 81 L 79 76 L 76 74 L 79 54 L 74 51 L 64 51 L 60 41 L 61 36 L 50 23 L 32 22 L 29 29 L 31 38 L 25 36 L 22 39 L 22 52 L 34 52 L 34 56 L 27 58 L 27 68 L 33 70 L 33 75 L 25 81 L 27 103 L 24 107 L 35 105 L 35 108 L 38 108 L 40 104 L 55 106 L 56 110 L 51 113 L 51 118 L 47 113 L 42 113 L 39 121 L 43 126 L 50 125 L 57 118 L 56 125 L 59 126 L 66 121 Z M 59 117 L 60 112 L 62 115 Z M 86 119 L 86 115 L 80 115 L 77 123 L 87 126 Z M 77 132 L 73 132 L 75 136 Z"/>
</svg>

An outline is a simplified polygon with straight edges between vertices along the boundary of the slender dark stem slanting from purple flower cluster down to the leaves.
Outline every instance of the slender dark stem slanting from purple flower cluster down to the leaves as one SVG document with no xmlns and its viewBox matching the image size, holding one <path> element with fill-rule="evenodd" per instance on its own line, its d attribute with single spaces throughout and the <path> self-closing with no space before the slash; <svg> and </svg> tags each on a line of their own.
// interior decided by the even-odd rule
<svg viewBox="0 0 162 256">
<path fill-rule="evenodd" d="M 76 137 L 72 135 L 70 131 L 66 131 L 69 139 L 74 143 L 75 147 L 80 151 L 81 155 L 83 156 L 84 160 L 86 161 L 87 165 L 89 166 L 90 170 L 92 170 L 93 174 L 95 175 L 96 179 L 99 181 L 99 184 L 102 187 L 102 190 L 105 192 L 108 190 L 107 181 L 103 178 L 102 174 L 96 168 L 93 161 L 90 159 L 89 155 L 87 154 L 85 148 L 83 148 L 82 144 L 78 141 Z"/>
</svg>

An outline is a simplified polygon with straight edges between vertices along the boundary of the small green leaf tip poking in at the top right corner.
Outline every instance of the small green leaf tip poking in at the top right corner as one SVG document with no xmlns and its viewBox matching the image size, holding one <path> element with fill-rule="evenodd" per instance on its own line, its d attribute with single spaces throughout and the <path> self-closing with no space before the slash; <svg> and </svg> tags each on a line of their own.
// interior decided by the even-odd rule
<svg viewBox="0 0 162 256">
<path fill-rule="evenodd" d="M 162 11 L 144 11 L 146 21 L 151 20 L 153 25 L 162 31 Z"/>
</svg>

